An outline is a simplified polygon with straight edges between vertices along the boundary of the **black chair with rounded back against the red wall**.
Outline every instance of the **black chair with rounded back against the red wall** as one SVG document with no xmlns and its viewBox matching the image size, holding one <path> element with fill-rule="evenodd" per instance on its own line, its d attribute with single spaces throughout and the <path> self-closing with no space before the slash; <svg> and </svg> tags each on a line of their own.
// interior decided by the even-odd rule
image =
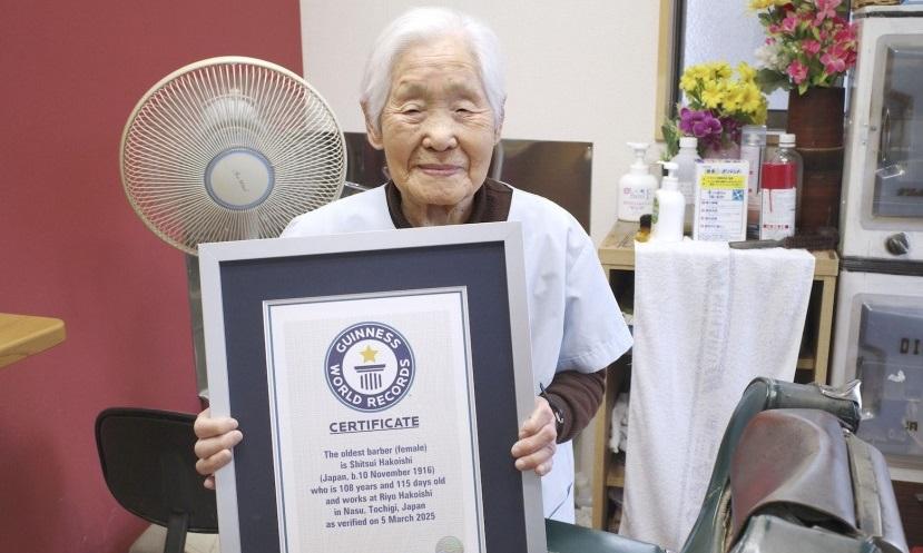
<svg viewBox="0 0 923 553">
<path fill-rule="evenodd" d="M 195 470 L 194 423 L 194 415 L 140 408 L 96 419 L 106 485 L 122 507 L 167 529 L 164 553 L 183 553 L 187 531 L 218 532 L 215 492 Z"/>
</svg>

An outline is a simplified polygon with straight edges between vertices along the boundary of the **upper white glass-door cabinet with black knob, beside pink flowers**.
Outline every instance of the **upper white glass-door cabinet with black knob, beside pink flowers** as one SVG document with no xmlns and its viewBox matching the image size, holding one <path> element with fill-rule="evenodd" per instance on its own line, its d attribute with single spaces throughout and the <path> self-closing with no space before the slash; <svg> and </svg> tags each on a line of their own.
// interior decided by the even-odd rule
<svg viewBox="0 0 923 553">
<path fill-rule="evenodd" d="M 842 257 L 923 260 L 923 6 L 854 12 Z"/>
</svg>

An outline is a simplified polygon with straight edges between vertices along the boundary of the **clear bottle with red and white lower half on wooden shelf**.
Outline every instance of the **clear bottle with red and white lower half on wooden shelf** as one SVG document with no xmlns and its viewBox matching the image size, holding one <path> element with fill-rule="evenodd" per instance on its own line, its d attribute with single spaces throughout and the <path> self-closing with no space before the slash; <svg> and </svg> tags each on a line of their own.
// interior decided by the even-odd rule
<svg viewBox="0 0 923 553">
<path fill-rule="evenodd" d="M 763 164 L 759 239 L 795 235 L 795 216 L 802 180 L 802 157 L 795 151 L 795 135 L 782 135 L 776 152 Z"/>
</svg>

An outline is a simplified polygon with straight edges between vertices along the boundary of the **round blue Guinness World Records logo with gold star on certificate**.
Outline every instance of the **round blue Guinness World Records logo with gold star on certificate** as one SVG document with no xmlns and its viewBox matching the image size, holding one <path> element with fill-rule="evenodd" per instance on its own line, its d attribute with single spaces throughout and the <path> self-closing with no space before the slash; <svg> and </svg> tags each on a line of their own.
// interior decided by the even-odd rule
<svg viewBox="0 0 923 553">
<path fill-rule="evenodd" d="M 404 398 L 415 364 L 408 339 L 382 323 L 342 330 L 327 348 L 327 386 L 343 405 L 365 413 L 384 411 Z"/>
</svg>

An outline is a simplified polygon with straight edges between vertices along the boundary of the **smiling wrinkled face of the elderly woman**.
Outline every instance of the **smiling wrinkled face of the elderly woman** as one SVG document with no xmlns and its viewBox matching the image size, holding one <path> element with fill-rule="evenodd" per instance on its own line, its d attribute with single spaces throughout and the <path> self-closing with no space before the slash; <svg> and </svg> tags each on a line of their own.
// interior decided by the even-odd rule
<svg viewBox="0 0 923 553">
<path fill-rule="evenodd" d="M 392 69 L 381 135 L 402 201 L 452 208 L 469 203 L 487 178 L 500 138 L 474 57 L 455 37 L 411 47 Z"/>
</svg>

